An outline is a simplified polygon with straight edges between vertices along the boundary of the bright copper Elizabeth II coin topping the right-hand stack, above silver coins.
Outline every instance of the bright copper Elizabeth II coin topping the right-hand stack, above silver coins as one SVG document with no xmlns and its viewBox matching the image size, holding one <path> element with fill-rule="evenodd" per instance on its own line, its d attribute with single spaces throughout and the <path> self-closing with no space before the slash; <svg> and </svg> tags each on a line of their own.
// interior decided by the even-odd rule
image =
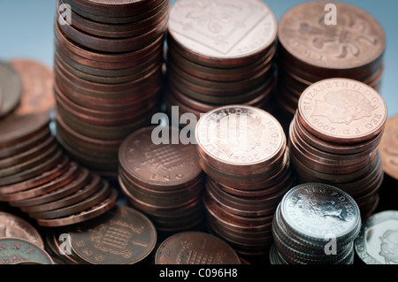
<svg viewBox="0 0 398 282">
<path fill-rule="evenodd" d="M 325 141 L 352 144 L 383 130 L 387 106 L 379 93 L 362 82 L 328 79 L 302 93 L 298 116 L 302 126 Z"/>
</svg>

